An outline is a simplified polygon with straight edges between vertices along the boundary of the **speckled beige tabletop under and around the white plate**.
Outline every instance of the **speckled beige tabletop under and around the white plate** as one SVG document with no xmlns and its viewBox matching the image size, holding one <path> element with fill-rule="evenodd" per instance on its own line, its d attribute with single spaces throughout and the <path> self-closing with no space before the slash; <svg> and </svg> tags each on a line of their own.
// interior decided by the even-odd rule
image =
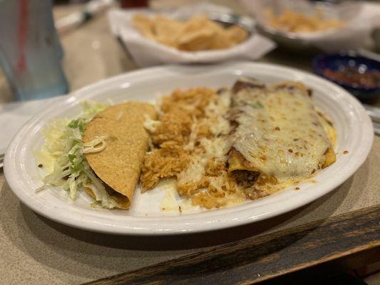
<svg viewBox="0 0 380 285">
<path fill-rule="evenodd" d="M 238 7 L 234 7 L 238 11 Z M 78 6 L 58 6 L 56 17 Z M 71 90 L 108 78 L 135 66 L 111 35 L 106 16 L 61 37 L 63 66 Z M 310 70 L 307 56 L 274 51 L 260 61 Z M 11 98 L 0 74 L 0 102 Z M 0 170 L 0 275 L 3 284 L 78 284 L 203 252 L 242 237 L 302 226 L 380 204 L 380 138 L 374 139 L 369 158 L 343 185 L 312 204 L 269 222 L 251 224 L 245 233 L 225 231 L 221 237 L 137 238 L 95 234 L 45 219 L 21 204 Z M 186 244 L 185 247 L 183 244 Z"/>
</svg>

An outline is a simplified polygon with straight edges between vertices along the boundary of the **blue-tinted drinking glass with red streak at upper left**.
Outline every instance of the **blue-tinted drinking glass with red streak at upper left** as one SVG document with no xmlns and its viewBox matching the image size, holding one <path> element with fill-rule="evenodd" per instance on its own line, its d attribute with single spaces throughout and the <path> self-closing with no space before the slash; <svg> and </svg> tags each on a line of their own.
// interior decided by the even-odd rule
<svg viewBox="0 0 380 285">
<path fill-rule="evenodd" d="M 0 64 L 15 100 L 68 92 L 51 0 L 0 0 Z"/>
</svg>

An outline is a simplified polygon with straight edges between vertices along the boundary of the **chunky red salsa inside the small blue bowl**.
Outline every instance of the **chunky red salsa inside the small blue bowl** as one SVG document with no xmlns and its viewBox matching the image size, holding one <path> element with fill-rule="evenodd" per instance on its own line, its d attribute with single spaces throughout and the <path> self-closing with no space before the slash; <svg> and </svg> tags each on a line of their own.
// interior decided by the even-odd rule
<svg viewBox="0 0 380 285">
<path fill-rule="evenodd" d="M 342 68 L 338 71 L 332 71 L 327 68 L 323 71 L 323 74 L 334 81 L 342 83 L 356 84 L 357 86 L 370 88 L 380 86 L 379 71 L 365 71 L 361 73 L 356 68 Z"/>
</svg>

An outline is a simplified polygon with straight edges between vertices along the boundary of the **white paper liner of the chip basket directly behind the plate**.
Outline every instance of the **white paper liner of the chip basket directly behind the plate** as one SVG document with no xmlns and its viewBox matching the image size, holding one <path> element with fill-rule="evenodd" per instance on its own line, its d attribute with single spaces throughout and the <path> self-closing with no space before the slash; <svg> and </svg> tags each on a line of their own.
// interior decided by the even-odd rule
<svg viewBox="0 0 380 285">
<path fill-rule="evenodd" d="M 212 63 L 244 58 L 257 59 L 275 47 L 275 44 L 271 40 L 253 32 L 247 41 L 225 50 L 179 51 L 142 36 L 131 24 L 131 19 L 136 12 L 149 16 L 160 13 L 177 19 L 186 19 L 196 14 L 225 14 L 231 11 L 223 6 L 205 3 L 194 6 L 183 6 L 179 9 L 166 9 L 164 11 L 152 11 L 148 9 L 126 11 L 119 9 L 109 11 L 108 20 L 111 31 L 115 36 L 120 36 L 139 66 L 155 66 L 163 63 Z"/>
</svg>

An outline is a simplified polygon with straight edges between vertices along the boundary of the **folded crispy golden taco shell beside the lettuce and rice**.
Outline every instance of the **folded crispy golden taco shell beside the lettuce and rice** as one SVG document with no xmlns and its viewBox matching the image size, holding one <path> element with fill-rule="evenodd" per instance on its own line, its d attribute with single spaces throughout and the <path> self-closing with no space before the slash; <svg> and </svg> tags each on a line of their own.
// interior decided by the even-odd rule
<svg viewBox="0 0 380 285">
<path fill-rule="evenodd" d="M 98 113 L 83 135 L 83 142 L 106 136 L 106 148 L 86 153 L 86 159 L 96 175 L 112 188 L 106 187 L 108 194 L 123 209 L 132 200 L 148 150 L 149 135 L 143 126 L 145 115 L 157 117 L 153 105 L 139 102 L 114 105 Z"/>
</svg>

